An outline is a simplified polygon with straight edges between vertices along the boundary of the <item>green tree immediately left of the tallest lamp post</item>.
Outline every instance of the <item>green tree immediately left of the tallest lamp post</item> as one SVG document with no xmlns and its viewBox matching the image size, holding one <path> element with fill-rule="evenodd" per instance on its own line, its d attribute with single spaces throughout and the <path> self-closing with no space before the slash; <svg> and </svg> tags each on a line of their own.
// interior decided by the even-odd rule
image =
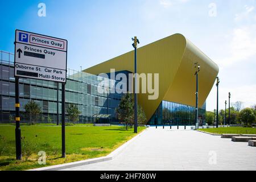
<svg viewBox="0 0 256 182">
<path fill-rule="evenodd" d="M 128 124 L 133 119 L 133 97 L 132 94 L 125 94 L 120 101 L 120 104 L 115 109 L 115 113 L 117 113 L 117 118 L 125 122 L 126 130 L 128 130 Z"/>
</svg>

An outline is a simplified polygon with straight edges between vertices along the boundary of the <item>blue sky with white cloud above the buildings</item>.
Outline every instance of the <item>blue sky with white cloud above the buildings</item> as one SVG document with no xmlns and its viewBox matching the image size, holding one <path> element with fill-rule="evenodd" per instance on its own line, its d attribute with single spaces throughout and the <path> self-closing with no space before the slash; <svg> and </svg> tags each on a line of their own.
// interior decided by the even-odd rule
<svg viewBox="0 0 256 182">
<path fill-rule="evenodd" d="M 46 4 L 46 17 L 38 4 Z M 210 16 L 216 6 L 216 16 Z M 0 49 L 14 52 L 15 29 L 68 40 L 68 68 L 88 68 L 141 44 L 181 33 L 220 67 L 220 108 L 256 104 L 255 0 L 1 1 Z M 215 12 L 215 11 L 214 11 Z M 99 51 L 100 50 L 100 51 Z M 216 87 L 207 100 L 216 107 Z"/>
</svg>

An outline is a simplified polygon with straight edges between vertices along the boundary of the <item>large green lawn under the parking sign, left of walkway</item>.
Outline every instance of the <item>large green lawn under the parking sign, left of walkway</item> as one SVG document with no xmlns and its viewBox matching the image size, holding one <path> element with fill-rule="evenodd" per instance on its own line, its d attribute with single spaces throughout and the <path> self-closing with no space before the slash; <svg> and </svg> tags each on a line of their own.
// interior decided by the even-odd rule
<svg viewBox="0 0 256 182">
<path fill-rule="evenodd" d="M 115 148 L 135 136 L 125 127 L 66 126 L 66 154 L 61 156 L 60 126 L 20 126 L 24 152 L 32 152 L 27 160 L 15 160 L 15 126 L 0 125 L 0 170 L 23 170 L 45 167 L 38 164 L 38 152 L 45 151 L 47 164 L 61 164 L 108 155 Z M 139 127 L 141 132 L 144 127 Z"/>
</svg>

